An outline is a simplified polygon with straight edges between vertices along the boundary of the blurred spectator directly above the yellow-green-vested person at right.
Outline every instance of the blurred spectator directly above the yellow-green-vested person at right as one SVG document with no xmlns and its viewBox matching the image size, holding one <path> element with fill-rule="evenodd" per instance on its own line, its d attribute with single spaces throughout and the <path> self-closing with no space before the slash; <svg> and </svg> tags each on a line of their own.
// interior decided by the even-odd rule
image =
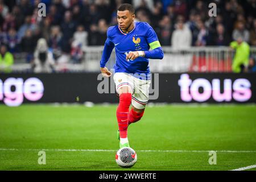
<svg viewBox="0 0 256 182">
<path fill-rule="evenodd" d="M 232 34 L 233 40 L 237 40 L 237 38 L 240 37 L 243 39 L 243 41 L 249 43 L 250 34 L 249 31 L 245 29 L 245 24 L 242 21 L 237 23 L 237 26 Z"/>
</svg>

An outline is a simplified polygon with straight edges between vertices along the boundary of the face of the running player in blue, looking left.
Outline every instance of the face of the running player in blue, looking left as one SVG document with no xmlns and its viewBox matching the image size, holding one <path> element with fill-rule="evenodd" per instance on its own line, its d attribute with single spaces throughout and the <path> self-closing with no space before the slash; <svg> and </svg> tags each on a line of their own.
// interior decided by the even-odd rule
<svg viewBox="0 0 256 182">
<path fill-rule="evenodd" d="M 122 30 L 127 30 L 133 23 L 135 15 L 130 11 L 117 11 L 117 22 Z"/>
</svg>

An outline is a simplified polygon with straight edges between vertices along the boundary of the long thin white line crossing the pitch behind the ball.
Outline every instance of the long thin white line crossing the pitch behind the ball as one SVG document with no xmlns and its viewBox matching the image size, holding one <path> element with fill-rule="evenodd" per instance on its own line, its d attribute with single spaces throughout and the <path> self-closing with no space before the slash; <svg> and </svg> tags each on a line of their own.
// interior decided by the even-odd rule
<svg viewBox="0 0 256 182">
<path fill-rule="evenodd" d="M 35 148 L 0 148 L 0 151 L 65 151 L 65 152 L 115 152 L 117 150 L 104 149 L 35 149 Z M 210 152 L 213 150 L 137 150 L 137 152 Z M 233 151 L 233 150 L 216 150 L 215 152 L 224 153 L 256 153 L 256 151 Z"/>
</svg>

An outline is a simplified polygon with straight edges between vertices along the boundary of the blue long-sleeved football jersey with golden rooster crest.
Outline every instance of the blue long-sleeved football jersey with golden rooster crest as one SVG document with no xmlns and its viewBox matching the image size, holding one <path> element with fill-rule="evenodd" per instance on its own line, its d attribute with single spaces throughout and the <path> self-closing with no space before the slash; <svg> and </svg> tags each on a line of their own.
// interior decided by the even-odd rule
<svg viewBox="0 0 256 182">
<path fill-rule="evenodd" d="M 108 28 L 107 36 L 105 47 L 108 46 L 111 51 L 115 48 L 115 72 L 147 75 L 146 79 L 150 79 L 148 59 L 146 57 L 138 57 L 134 60 L 126 60 L 126 55 L 130 51 L 148 51 L 150 48 L 160 47 L 158 37 L 153 28 L 148 23 L 135 22 L 133 30 L 129 33 L 123 32 L 119 26 L 112 26 Z M 108 61 L 106 59 L 109 59 L 109 57 L 102 56 L 101 67 L 105 67 Z M 142 79 L 144 80 L 145 78 Z"/>
</svg>

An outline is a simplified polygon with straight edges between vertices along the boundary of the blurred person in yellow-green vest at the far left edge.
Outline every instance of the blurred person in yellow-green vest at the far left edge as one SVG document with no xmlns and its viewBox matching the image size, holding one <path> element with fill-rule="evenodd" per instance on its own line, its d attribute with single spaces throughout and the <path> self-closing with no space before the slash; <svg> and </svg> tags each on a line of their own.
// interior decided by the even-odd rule
<svg viewBox="0 0 256 182">
<path fill-rule="evenodd" d="M 10 73 L 13 65 L 13 55 L 7 51 L 5 45 L 0 46 L 0 72 Z"/>
</svg>

